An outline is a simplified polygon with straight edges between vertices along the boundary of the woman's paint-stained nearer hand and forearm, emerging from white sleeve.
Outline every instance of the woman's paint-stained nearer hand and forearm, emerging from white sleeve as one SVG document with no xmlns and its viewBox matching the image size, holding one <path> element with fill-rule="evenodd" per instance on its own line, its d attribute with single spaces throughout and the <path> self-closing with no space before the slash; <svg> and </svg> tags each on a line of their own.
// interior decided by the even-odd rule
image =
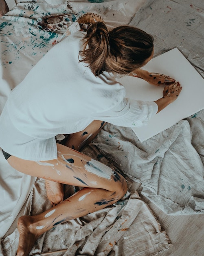
<svg viewBox="0 0 204 256">
<path fill-rule="evenodd" d="M 175 101 L 178 98 L 181 90 L 182 87 L 179 82 L 173 83 L 171 85 L 165 85 L 163 90 L 163 97 L 157 101 L 154 101 L 158 105 L 157 113 Z"/>
</svg>

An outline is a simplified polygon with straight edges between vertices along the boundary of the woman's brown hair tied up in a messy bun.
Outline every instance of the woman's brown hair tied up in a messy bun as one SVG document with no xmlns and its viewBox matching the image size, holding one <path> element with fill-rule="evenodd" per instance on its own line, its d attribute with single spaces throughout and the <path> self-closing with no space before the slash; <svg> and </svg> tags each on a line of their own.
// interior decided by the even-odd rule
<svg viewBox="0 0 204 256">
<path fill-rule="evenodd" d="M 129 74 L 142 67 L 153 52 L 153 36 L 136 27 L 120 26 L 110 31 L 94 23 L 85 36 L 82 59 L 95 76 L 103 71 Z"/>
</svg>

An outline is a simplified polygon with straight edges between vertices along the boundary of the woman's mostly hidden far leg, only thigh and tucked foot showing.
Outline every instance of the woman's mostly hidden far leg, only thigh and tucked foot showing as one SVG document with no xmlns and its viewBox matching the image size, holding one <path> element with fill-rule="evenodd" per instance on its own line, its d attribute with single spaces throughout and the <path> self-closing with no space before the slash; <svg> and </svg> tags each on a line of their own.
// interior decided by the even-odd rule
<svg viewBox="0 0 204 256">
<path fill-rule="evenodd" d="M 84 130 L 72 133 L 66 137 L 60 144 L 68 146 L 69 148 L 81 151 L 88 145 L 105 126 L 105 122 L 94 120 Z M 64 184 L 46 180 L 45 182 L 48 199 L 52 205 L 59 204 L 64 200 Z"/>
</svg>

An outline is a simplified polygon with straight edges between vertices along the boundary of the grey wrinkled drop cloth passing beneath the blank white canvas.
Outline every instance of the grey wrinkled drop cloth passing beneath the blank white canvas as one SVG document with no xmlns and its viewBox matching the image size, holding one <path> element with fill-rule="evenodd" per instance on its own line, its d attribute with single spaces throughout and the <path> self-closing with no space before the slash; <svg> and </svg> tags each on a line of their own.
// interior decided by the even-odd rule
<svg viewBox="0 0 204 256">
<path fill-rule="evenodd" d="M 130 25 L 154 36 L 154 56 L 178 47 L 204 77 L 203 14 L 203 0 L 147 0 Z M 146 198 L 165 213 L 180 215 L 204 213 L 203 140 L 204 110 L 143 143 L 131 128 L 110 124 L 94 143 L 141 184 Z"/>
</svg>

